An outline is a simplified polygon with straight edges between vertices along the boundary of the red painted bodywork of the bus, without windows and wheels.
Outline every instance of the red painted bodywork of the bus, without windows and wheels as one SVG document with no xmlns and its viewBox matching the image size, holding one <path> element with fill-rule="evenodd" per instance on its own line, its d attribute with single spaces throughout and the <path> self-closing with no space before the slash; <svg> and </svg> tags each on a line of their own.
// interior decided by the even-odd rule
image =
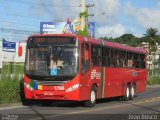
<svg viewBox="0 0 160 120">
<path fill-rule="evenodd" d="M 33 35 L 34 37 L 38 36 L 67 36 L 67 37 L 76 37 L 79 40 L 79 43 L 84 42 L 84 37 L 71 35 L 71 34 L 41 34 L 41 35 Z M 33 37 L 31 36 L 31 37 Z M 101 41 L 96 39 L 90 39 L 89 44 L 97 44 L 100 45 Z M 124 46 L 118 43 L 111 43 L 104 41 L 104 46 L 109 46 L 112 48 L 119 48 L 123 50 L 130 50 L 133 52 L 143 53 L 145 54 L 145 51 L 138 48 L 133 48 L 129 46 Z M 89 54 L 91 55 L 91 50 L 89 52 L 85 51 L 85 59 L 89 59 Z M 102 69 L 101 67 L 90 67 L 90 69 L 85 73 L 82 74 L 82 60 L 81 60 L 81 52 L 80 52 L 80 65 L 79 65 L 79 72 L 73 78 L 72 80 L 69 80 L 65 84 L 63 84 L 65 90 L 58 91 L 55 90 L 55 86 L 51 86 L 50 89 L 48 89 L 48 86 L 43 86 L 44 90 L 33 90 L 30 91 L 27 88 L 25 88 L 25 95 L 28 99 L 50 99 L 50 100 L 76 100 L 76 101 L 82 101 L 82 100 L 88 100 L 91 87 L 93 84 L 97 85 L 98 90 L 98 98 L 101 98 L 101 80 L 91 79 L 91 72 L 93 70 L 96 70 L 97 73 L 101 73 Z M 137 73 L 138 76 L 133 76 L 132 73 Z M 104 80 L 104 94 L 103 98 L 108 97 L 114 97 L 114 96 L 123 96 L 125 94 L 125 87 L 127 83 L 135 83 L 136 84 L 136 92 L 140 93 L 145 91 L 146 89 L 146 76 L 147 72 L 146 69 L 135 69 L 135 68 L 112 68 L 112 67 L 105 67 L 104 68 L 104 74 L 105 80 Z M 24 82 L 28 83 L 29 77 L 25 75 Z M 79 83 L 81 86 L 77 89 L 75 89 L 72 92 L 66 92 L 66 90 Z"/>
</svg>

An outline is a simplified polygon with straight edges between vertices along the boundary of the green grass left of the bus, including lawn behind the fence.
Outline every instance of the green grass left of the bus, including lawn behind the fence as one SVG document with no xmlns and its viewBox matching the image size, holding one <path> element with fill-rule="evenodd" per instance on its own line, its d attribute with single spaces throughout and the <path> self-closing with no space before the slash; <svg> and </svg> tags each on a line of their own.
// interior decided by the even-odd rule
<svg viewBox="0 0 160 120">
<path fill-rule="evenodd" d="M 19 82 L 23 77 L 23 69 L 23 64 L 3 64 L 0 78 L 0 104 L 20 102 Z"/>
</svg>

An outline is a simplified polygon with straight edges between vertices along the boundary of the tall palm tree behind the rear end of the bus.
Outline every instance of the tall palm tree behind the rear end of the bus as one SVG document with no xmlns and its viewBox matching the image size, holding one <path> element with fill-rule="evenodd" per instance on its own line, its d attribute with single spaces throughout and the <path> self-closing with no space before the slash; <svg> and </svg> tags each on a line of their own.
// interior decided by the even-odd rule
<svg viewBox="0 0 160 120">
<path fill-rule="evenodd" d="M 159 43 L 159 37 L 157 35 L 158 30 L 156 28 L 148 28 L 146 30 L 146 42 L 148 42 L 149 44 L 149 54 L 151 54 L 151 52 L 155 52 L 157 50 L 157 43 Z"/>
</svg>

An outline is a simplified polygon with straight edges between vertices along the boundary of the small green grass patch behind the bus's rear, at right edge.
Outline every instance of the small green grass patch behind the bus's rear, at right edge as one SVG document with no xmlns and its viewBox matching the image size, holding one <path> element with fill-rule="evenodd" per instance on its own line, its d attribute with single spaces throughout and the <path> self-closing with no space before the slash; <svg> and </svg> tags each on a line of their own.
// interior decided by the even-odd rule
<svg viewBox="0 0 160 120">
<path fill-rule="evenodd" d="M 160 77 L 159 76 L 151 76 L 147 80 L 148 85 L 160 85 Z"/>
</svg>

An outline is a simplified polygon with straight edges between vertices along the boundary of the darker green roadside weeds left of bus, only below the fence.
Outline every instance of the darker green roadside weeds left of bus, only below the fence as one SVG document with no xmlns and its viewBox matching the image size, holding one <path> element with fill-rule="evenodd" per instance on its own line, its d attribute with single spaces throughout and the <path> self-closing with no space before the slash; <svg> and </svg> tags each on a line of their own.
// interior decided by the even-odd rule
<svg viewBox="0 0 160 120">
<path fill-rule="evenodd" d="M 0 81 L 0 104 L 20 102 L 19 80 L 2 79 Z"/>
</svg>

